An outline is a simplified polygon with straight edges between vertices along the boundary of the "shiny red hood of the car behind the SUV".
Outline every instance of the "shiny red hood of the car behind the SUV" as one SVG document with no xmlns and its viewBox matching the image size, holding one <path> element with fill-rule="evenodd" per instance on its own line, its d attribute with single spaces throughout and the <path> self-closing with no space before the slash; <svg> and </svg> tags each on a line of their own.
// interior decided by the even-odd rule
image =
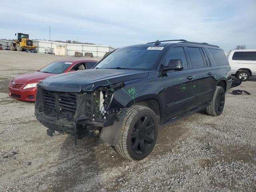
<svg viewBox="0 0 256 192">
<path fill-rule="evenodd" d="M 31 72 L 15 77 L 13 80 L 20 83 L 37 83 L 38 81 L 56 75 L 54 73 L 43 73 L 43 72 Z"/>
</svg>

